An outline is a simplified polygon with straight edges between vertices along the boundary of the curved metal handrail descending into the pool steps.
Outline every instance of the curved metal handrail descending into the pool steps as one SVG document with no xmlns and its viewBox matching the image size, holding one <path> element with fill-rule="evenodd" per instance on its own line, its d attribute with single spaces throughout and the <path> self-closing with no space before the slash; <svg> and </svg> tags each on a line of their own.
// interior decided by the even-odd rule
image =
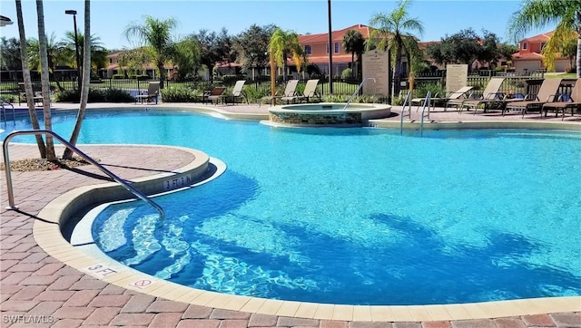
<svg viewBox="0 0 581 328">
<path fill-rule="evenodd" d="M 8 144 L 10 142 L 10 140 L 18 135 L 39 135 L 39 134 L 48 134 L 53 136 L 55 139 L 61 141 L 61 143 L 64 144 L 64 147 L 68 148 L 69 150 L 73 150 L 74 152 L 76 152 L 78 155 L 80 155 L 84 160 L 88 161 L 89 163 L 93 164 L 94 166 L 97 167 L 97 169 L 101 169 L 101 171 L 108 175 L 110 178 L 113 178 L 113 180 L 119 184 L 121 184 L 123 186 L 123 188 L 129 190 L 131 193 L 133 193 L 133 195 L 135 195 L 137 198 L 142 199 L 144 202 L 148 203 L 149 205 L 153 206 L 159 213 L 160 216 L 162 217 L 162 220 L 165 218 L 165 212 L 163 211 L 163 208 L 160 207 L 157 203 L 155 203 L 152 199 L 147 198 L 147 196 L 143 195 L 143 193 L 139 190 L 137 190 L 136 188 L 133 188 L 132 185 L 128 184 L 127 182 L 125 182 L 122 178 L 117 177 L 112 171 L 110 171 L 109 169 L 105 169 L 103 167 L 103 165 L 97 163 L 94 159 L 90 158 L 87 154 L 85 154 L 83 151 L 79 150 L 78 148 L 74 147 L 74 145 L 70 142 L 68 142 L 67 140 L 64 140 L 63 137 L 59 136 L 58 134 L 54 133 L 54 131 L 52 130 L 17 130 L 17 131 L 13 131 L 11 133 L 9 133 L 5 140 L 4 140 L 4 166 L 5 166 L 5 173 L 6 173 L 6 184 L 8 187 L 8 204 L 9 207 L 6 207 L 7 209 L 16 209 L 18 207 L 15 206 L 15 196 L 14 196 L 14 190 L 13 190 L 13 186 L 12 186 L 12 173 L 10 171 L 10 156 L 8 154 Z"/>
</svg>

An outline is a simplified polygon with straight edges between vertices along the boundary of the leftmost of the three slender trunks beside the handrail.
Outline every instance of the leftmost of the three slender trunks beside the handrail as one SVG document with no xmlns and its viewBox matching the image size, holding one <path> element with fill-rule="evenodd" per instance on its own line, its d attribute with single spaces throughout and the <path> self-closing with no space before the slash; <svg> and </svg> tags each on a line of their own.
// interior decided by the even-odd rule
<svg viewBox="0 0 581 328">
<path fill-rule="evenodd" d="M 20 35 L 20 59 L 22 60 L 22 74 L 25 82 L 26 105 L 28 106 L 28 114 L 30 115 L 30 122 L 34 130 L 40 130 L 36 110 L 34 109 L 34 91 L 33 84 L 30 78 L 30 68 L 28 67 L 28 53 L 26 53 L 26 34 L 25 22 L 22 17 L 22 2 L 16 0 L 16 17 L 18 20 L 18 33 Z M 40 152 L 41 159 L 46 158 L 46 147 L 44 146 L 43 137 L 36 135 L 36 144 Z"/>
</svg>

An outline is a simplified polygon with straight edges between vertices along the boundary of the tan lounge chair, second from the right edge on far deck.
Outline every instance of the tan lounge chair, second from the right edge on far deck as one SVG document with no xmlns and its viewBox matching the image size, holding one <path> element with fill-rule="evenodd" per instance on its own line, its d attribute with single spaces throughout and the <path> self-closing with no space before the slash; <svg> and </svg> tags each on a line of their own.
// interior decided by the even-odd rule
<svg viewBox="0 0 581 328">
<path fill-rule="evenodd" d="M 504 101 L 502 115 L 504 116 L 507 111 L 520 111 L 524 118 L 525 114 L 531 110 L 538 110 L 542 113 L 545 103 L 556 101 L 556 94 L 559 92 L 562 80 L 557 78 L 545 79 L 538 89 L 537 94 L 527 94 L 520 101 Z"/>
</svg>

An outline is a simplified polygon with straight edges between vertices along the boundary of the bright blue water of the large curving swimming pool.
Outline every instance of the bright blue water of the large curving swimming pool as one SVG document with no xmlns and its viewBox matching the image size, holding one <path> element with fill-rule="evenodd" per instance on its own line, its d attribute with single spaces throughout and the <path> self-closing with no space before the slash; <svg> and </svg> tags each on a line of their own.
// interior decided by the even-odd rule
<svg viewBox="0 0 581 328">
<path fill-rule="evenodd" d="M 54 116 L 57 133 L 73 125 L 74 115 Z M 90 111 L 79 142 L 178 145 L 228 165 L 210 183 L 156 198 L 162 229 L 141 201 L 94 220 L 109 256 L 182 285 L 333 304 L 581 294 L 579 133 L 419 138 Z"/>
</svg>

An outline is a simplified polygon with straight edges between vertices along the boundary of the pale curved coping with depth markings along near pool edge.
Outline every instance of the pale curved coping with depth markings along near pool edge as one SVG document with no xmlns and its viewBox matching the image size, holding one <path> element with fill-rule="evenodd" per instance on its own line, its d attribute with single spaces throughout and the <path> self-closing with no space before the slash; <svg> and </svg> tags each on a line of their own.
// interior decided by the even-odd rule
<svg viewBox="0 0 581 328">
<path fill-rule="evenodd" d="M 132 145 L 126 145 L 131 147 Z M 143 146 L 143 145 L 135 145 Z M 173 147 L 155 146 L 153 147 Z M 199 150 L 173 147 L 191 151 L 195 159 L 188 165 L 149 177 L 135 178 L 135 187 L 144 189 L 151 195 L 162 191 L 160 187 L 168 178 L 188 174 L 202 175 L 209 157 Z M 123 187 L 115 183 L 96 184 L 74 188 L 49 202 L 38 217 L 51 218 L 34 220 L 33 236 L 44 251 L 58 261 L 94 276 L 112 285 L 159 296 L 166 300 L 186 304 L 202 305 L 224 310 L 253 314 L 273 314 L 279 316 L 320 320 L 348 320 L 361 322 L 421 322 L 498 318 L 531 314 L 567 313 L 581 311 L 581 296 L 545 297 L 511 301 L 497 301 L 470 304 L 429 304 L 429 305 L 344 305 L 316 304 L 271 300 L 251 296 L 221 294 L 178 285 L 155 278 L 121 265 L 113 259 L 91 256 L 79 247 L 72 246 L 64 238 L 61 228 L 76 210 L 83 207 L 87 198 L 116 198 L 126 195 Z"/>
</svg>

